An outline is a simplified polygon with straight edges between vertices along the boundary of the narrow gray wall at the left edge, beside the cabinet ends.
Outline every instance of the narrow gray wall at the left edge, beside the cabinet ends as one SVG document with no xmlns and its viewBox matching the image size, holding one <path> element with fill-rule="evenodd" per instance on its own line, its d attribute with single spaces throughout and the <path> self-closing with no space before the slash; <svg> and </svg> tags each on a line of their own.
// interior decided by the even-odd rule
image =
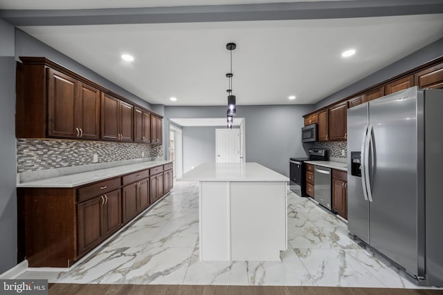
<svg viewBox="0 0 443 295">
<path fill-rule="evenodd" d="M 14 27 L 0 19 L 0 274 L 17 264 Z"/>
</svg>

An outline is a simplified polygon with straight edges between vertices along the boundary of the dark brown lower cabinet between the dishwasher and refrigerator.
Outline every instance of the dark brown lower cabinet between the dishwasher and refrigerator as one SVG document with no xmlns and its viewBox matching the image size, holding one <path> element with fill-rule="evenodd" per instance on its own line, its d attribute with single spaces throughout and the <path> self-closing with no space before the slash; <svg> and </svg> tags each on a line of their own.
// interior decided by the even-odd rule
<svg viewBox="0 0 443 295">
<path fill-rule="evenodd" d="M 347 220 L 347 173 L 332 169 L 332 210 Z"/>
</svg>

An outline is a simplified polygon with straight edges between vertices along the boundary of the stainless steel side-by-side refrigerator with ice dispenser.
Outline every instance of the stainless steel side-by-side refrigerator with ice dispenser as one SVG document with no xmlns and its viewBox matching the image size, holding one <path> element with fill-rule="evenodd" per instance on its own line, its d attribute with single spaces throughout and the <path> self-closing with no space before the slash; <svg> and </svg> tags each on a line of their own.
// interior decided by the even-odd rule
<svg viewBox="0 0 443 295">
<path fill-rule="evenodd" d="M 419 285 L 443 286 L 443 90 L 408 88 L 347 110 L 350 234 Z"/>
</svg>

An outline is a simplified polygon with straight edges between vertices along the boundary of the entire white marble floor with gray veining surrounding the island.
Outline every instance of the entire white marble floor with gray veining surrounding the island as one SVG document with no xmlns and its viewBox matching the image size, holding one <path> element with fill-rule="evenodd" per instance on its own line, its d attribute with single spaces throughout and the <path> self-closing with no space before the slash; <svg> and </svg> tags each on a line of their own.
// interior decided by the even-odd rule
<svg viewBox="0 0 443 295">
<path fill-rule="evenodd" d="M 280 262 L 199 261 L 199 184 L 174 189 L 66 272 L 32 269 L 49 283 L 319 285 L 417 288 L 388 260 L 361 249 L 347 224 L 289 191 L 289 249 Z"/>
</svg>

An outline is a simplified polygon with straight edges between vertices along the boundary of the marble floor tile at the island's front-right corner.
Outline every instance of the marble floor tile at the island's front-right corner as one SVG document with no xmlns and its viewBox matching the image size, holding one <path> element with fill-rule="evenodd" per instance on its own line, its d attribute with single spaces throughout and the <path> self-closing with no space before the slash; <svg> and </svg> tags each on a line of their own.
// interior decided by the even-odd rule
<svg viewBox="0 0 443 295">
<path fill-rule="evenodd" d="M 280 252 L 280 257 L 277 262 L 246 262 L 249 285 L 316 285 L 293 249 Z"/>
</svg>

